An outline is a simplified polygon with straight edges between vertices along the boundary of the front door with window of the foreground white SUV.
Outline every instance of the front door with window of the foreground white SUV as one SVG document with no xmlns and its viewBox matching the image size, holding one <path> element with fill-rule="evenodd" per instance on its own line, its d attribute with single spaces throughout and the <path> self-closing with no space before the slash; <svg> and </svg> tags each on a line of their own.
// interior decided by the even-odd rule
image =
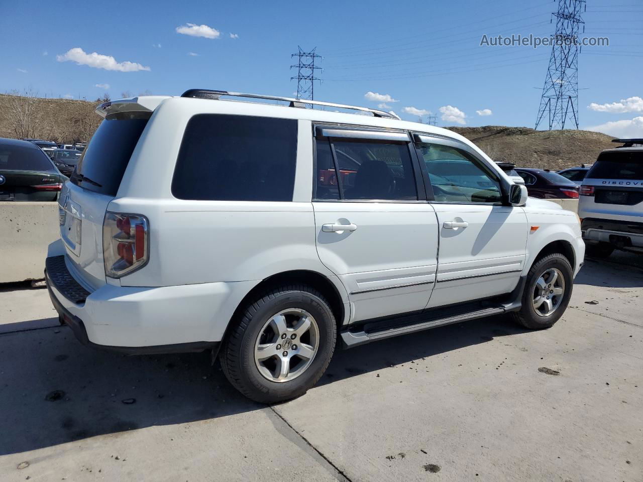
<svg viewBox="0 0 643 482">
<path fill-rule="evenodd" d="M 503 206 L 500 176 L 464 143 L 424 135 L 415 139 L 440 233 L 428 307 L 511 292 L 525 263 L 525 211 Z"/>
</svg>

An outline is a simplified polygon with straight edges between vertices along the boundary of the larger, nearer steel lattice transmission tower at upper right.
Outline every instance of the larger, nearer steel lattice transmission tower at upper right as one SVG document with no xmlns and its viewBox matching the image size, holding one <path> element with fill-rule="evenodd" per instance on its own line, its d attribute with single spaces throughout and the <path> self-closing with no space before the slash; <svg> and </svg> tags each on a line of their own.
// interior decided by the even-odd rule
<svg viewBox="0 0 643 482">
<path fill-rule="evenodd" d="M 549 57 L 540 108 L 536 117 L 536 129 L 544 121 L 548 129 L 565 129 L 566 122 L 572 122 L 578 129 L 578 33 L 581 24 L 581 10 L 586 0 L 558 0 L 556 36 Z M 552 17 L 552 19 L 553 19 Z"/>
</svg>

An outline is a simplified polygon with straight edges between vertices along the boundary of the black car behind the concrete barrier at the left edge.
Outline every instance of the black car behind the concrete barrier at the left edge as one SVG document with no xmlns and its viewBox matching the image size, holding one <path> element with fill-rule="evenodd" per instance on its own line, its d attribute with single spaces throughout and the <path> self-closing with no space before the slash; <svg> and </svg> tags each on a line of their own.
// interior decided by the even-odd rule
<svg viewBox="0 0 643 482">
<path fill-rule="evenodd" d="M 0 138 L 0 201 L 56 201 L 64 179 L 35 144 Z"/>
</svg>

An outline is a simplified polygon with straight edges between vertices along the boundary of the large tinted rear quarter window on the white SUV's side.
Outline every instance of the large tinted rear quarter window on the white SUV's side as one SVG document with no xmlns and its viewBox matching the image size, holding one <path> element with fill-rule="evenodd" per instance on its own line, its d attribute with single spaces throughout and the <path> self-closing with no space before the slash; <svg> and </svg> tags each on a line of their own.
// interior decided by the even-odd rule
<svg viewBox="0 0 643 482">
<path fill-rule="evenodd" d="M 172 194 L 207 201 L 293 201 L 296 152 L 296 120 L 198 114 L 185 128 Z"/>
</svg>

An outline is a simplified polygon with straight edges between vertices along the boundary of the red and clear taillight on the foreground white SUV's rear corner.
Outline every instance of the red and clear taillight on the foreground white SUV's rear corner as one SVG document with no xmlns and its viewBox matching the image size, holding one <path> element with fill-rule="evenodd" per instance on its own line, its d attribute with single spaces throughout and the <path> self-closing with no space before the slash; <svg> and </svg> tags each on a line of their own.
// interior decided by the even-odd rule
<svg viewBox="0 0 643 482">
<path fill-rule="evenodd" d="M 140 214 L 105 213 L 103 262 L 105 276 L 120 278 L 149 260 L 149 222 Z"/>
</svg>

